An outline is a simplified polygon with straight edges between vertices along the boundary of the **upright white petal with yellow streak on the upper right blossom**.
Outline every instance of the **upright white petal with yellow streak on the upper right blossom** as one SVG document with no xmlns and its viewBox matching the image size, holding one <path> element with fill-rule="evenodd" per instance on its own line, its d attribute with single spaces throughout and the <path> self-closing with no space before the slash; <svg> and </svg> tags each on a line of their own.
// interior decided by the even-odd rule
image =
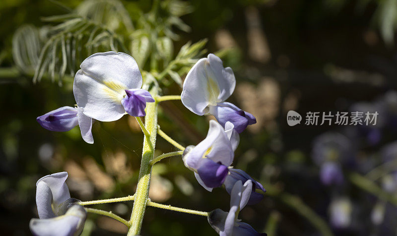
<svg viewBox="0 0 397 236">
<path fill-rule="evenodd" d="M 236 79 L 231 68 L 223 68 L 222 60 L 213 54 L 199 59 L 186 76 L 182 103 L 197 115 L 208 106 L 225 101 L 234 91 Z"/>
</svg>

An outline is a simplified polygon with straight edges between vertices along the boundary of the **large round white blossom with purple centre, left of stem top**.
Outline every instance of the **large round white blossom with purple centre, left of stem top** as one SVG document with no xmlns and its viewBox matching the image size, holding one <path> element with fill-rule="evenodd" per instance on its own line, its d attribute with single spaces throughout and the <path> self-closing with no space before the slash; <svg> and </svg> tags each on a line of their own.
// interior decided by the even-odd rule
<svg viewBox="0 0 397 236">
<path fill-rule="evenodd" d="M 150 93 L 140 89 L 142 75 L 135 60 L 125 53 L 96 53 L 85 59 L 74 76 L 73 94 L 84 115 L 114 121 L 126 112 L 145 116 Z"/>
</svg>

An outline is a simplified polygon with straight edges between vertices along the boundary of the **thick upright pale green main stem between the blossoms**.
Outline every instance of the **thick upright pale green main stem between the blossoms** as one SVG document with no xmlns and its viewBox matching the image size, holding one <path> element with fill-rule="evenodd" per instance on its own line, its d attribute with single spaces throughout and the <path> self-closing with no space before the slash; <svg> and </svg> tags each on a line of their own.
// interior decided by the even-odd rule
<svg viewBox="0 0 397 236">
<path fill-rule="evenodd" d="M 150 90 L 153 97 L 156 97 L 158 90 L 156 86 Z M 135 201 L 132 207 L 132 214 L 130 219 L 131 227 L 128 231 L 127 236 L 139 235 L 140 228 L 142 227 L 143 215 L 145 214 L 145 208 L 147 203 L 147 197 L 149 194 L 149 183 L 152 166 L 150 161 L 153 159 L 154 147 L 156 145 L 156 133 L 157 133 L 157 102 L 147 103 L 146 105 L 146 117 L 145 117 L 145 128 L 150 132 L 150 142 L 148 139 L 143 139 L 143 150 L 142 160 L 139 169 L 139 180 L 134 194 Z M 151 147 L 151 145 L 152 147 Z"/>
</svg>

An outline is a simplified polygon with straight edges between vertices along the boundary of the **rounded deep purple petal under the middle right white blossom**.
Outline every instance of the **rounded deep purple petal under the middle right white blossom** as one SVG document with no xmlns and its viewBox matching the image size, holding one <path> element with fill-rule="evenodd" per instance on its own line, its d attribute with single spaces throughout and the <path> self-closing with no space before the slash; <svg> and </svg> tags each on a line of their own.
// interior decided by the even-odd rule
<svg viewBox="0 0 397 236">
<path fill-rule="evenodd" d="M 229 170 L 227 166 L 215 163 L 209 158 L 203 158 L 197 169 L 199 177 L 207 187 L 219 187 L 225 181 Z"/>
</svg>

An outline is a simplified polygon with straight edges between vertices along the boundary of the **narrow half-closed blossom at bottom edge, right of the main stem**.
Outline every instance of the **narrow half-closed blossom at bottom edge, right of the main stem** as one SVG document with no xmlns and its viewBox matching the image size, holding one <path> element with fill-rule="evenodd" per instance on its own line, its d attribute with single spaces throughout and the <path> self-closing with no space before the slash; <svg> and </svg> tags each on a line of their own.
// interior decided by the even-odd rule
<svg viewBox="0 0 397 236">
<path fill-rule="evenodd" d="M 208 214 L 208 222 L 220 236 L 265 236 L 256 232 L 250 225 L 240 222 L 239 212 L 247 205 L 252 191 L 252 181 L 244 185 L 238 180 L 231 190 L 230 210 L 216 209 Z"/>
</svg>

